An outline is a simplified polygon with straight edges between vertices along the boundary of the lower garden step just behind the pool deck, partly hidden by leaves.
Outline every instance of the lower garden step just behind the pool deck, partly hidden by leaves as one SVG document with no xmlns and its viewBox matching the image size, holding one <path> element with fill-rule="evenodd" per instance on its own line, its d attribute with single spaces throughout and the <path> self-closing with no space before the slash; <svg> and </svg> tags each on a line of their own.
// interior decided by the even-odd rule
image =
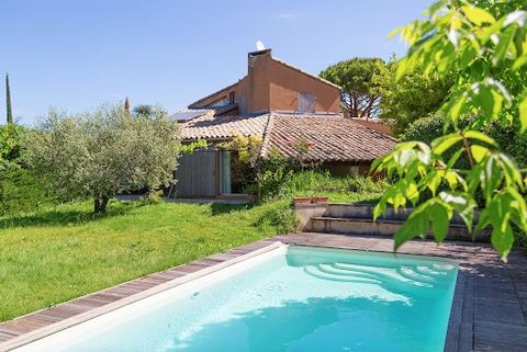
<svg viewBox="0 0 527 352">
<path fill-rule="evenodd" d="M 315 216 L 311 218 L 313 232 L 341 234 L 341 235 L 377 235 L 393 236 L 404 220 L 379 219 L 373 223 L 371 218 L 361 217 L 329 217 Z M 476 240 L 487 240 L 486 232 L 478 234 Z M 450 224 L 447 235 L 448 239 L 471 240 L 472 235 L 469 234 L 464 225 Z"/>
</svg>

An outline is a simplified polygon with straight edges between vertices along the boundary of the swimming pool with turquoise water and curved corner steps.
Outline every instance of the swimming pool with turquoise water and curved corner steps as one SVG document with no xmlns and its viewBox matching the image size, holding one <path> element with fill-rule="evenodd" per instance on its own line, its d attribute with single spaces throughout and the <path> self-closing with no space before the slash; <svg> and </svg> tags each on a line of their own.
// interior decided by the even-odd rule
<svg viewBox="0 0 527 352">
<path fill-rule="evenodd" d="M 14 351 L 442 351 L 457 271 L 280 246 Z"/>
</svg>

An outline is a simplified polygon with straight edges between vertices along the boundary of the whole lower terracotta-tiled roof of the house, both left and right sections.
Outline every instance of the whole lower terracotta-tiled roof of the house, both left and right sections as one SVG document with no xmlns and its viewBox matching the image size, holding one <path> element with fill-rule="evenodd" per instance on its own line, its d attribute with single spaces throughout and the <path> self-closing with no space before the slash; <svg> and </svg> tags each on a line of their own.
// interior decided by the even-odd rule
<svg viewBox="0 0 527 352">
<path fill-rule="evenodd" d="M 294 144 L 310 143 L 306 160 L 371 161 L 386 155 L 396 139 L 335 115 L 268 113 L 257 116 L 201 116 L 181 124 L 183 139 L 264 136 L 261 156 L 276 149 L 296 157 Z"/>
</svg>

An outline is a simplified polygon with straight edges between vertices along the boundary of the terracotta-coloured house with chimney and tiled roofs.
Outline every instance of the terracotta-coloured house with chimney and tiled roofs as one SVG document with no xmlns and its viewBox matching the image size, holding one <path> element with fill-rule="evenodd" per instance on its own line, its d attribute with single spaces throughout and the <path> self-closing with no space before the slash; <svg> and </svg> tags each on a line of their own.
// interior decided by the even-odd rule
<svg viewBox="0 0 527 352">
<path fill-rule="evenodd" d="M 273 57 L 271 49 L 249 53 L 247 66 L 238 82 L 172 115 L 181 123 L 183 143 L 204 139 L 209 147 L 180 157 L 170 196 L 244 196 L 236 150 L 217 148 L 235 136 L 259 136 L 261 158 L 272 150 L 293 158 L 294 144 L 306 140 L 303 160 L 335 174 L 366 173 L 393 148 L 393 137 L 339 114 L 338 86 Z"/>
</svg>

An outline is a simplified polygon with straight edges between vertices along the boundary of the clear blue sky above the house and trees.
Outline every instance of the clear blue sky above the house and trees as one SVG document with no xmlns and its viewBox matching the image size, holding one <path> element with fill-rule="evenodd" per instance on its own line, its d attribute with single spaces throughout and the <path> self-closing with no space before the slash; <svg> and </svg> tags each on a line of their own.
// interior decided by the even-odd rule
<svg viewBox="0 0 527 352">
<path fill-rule="evenodd" d="M 242 78 L 258 39 L 313 73 L 356 56 L 402 56 L 404 44 L 386 35 L 428 3 L 1 0 L 0 72 L 23 124 L 49 106 L 75 113 L 125 96 L 171 112 Z M 4 84 L 0 94 L 3 106 Z"/>
</svg>

